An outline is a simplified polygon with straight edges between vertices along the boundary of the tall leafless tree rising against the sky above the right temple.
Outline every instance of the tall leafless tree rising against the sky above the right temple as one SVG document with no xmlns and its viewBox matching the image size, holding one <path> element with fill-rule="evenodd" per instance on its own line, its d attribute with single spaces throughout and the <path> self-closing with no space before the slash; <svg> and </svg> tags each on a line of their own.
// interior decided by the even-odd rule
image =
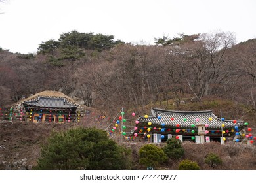
<svg viewBox="0 0 256 183">
<path fill-rule="evenodd" d="M 198 100 L 211 94 L 213 85 L 223 79 L 224 54 L 234 43 L 233 33 L 221 32 L 203 34 L 199 41 L 184 46 L 186 80 Z"/>
</svg>

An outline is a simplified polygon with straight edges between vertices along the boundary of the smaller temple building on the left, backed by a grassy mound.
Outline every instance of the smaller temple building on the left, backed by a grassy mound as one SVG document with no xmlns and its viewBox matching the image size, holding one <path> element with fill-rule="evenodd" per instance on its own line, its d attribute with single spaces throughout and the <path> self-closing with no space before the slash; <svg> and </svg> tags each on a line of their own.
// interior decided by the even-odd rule
<svg viewBox="0 0 256 183">
<path fill-rule="evenodd" d="M 32 122 L 72 122 L 78 105 L 66 97 L 38 96 L 22 103 Z"/>
</svg>

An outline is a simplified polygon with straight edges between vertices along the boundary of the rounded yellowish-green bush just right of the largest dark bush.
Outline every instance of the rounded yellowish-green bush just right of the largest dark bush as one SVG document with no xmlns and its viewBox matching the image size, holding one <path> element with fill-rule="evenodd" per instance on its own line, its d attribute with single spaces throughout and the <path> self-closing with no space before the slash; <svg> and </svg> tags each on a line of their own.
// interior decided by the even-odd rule
<svg viewBox="0 0 256 183">
<path fill-rule="evenodd" d="M 158 167 L 167 161 L 167 156 L 154 144 L 146 144 L 139 150 L 139 162 L 145 167 Z"/>
</svg>

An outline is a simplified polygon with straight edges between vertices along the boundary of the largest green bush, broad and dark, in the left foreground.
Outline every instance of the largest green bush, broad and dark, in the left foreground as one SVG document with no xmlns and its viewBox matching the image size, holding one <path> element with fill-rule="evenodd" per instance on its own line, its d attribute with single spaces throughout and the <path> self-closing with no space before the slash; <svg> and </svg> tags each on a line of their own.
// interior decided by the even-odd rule
<svg viewBox="0 0 256 183">
<path fill-rule="evenodd" d="M 106 131 L 77 128 L 53 133 L 41 149 L 35 169 L 130 169 L 131 151 Z"/>
</svg>

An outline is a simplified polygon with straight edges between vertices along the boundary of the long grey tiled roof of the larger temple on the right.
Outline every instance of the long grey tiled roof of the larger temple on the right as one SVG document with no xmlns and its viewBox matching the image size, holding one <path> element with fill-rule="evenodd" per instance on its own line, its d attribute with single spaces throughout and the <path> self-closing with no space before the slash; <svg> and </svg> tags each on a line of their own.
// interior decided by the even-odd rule
<svg viewBox="0 0 256 183">
<path fill-rule="evenodd" d="M 220 129 L 224 124 L 224 128 L 234 127 L 236 125 L 244 126 L 244 121 L 236 120 L 224 120 L 218 118 L 213 114 L 212 110 L 205 111 L 175 111 L 175 110 L 162 110 L 158 108 L 152 108 L 151 115 L 148 118 L 140 117 L 140 122 L 152 122 L 154 125 L 165 124 L 167 127 L 175 127 L 179 124 L 179 127 L 192 128 L 194 124 L 208 124 L 209 129 Z M 158 117 L 160 116 L 160 117 Z M 199 120 L 198 120 L 199 119 Z M 197 128 L 197 127 L 194 127 Z"/>
</svg>

